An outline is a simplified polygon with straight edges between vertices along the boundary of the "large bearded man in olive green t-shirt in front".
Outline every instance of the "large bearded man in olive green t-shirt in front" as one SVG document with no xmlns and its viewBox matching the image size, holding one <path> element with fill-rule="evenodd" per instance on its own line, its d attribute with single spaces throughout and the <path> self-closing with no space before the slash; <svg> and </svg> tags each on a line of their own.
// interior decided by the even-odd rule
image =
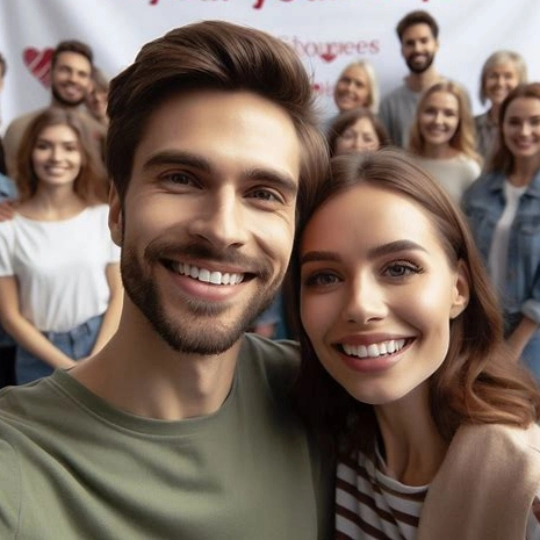
<svg viewBox="0 0 540 540">
<path fill-rule="evenodd" d="M 77 368 L 0 393 L 0 536 L 327 538 L 296 346 L 244 334 L 326 175 L 300 60 L 256 30 L 186 26 L 113 80 L 109 115 L 121 322 Z"/>
</svg>

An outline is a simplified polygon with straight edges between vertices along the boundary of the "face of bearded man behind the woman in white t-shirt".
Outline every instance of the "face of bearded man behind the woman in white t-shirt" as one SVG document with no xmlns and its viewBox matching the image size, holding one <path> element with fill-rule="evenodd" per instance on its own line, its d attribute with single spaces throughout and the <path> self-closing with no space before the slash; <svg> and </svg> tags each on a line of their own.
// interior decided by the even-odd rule
<svg viewBox="0 0 540 540">
<path fill-rule="evenodd" d="M 83 103 L 92 86 L 92 66 L 88 58 L 75 52 L 58 55 L 51 70 L 51 91 L 54 99 L 67 107 Z"/>
</svg>

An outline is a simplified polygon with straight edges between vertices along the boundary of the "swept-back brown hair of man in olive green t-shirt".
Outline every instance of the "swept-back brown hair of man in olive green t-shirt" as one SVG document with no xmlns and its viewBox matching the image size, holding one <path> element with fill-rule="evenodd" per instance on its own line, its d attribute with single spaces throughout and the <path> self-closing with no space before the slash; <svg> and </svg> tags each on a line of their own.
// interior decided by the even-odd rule
<svg viewBox="0 0 540 540">
<path fill-rule="evenodd" d="M 147 43 L 135 62 L 111 81 L 106 162 L 120 199 L 150 115 L 171 94 L 192 89 L 250 91 L 289 114 L 302 145 L 302 211 L 328 166 L 309 77 L 284 42 L 223 21 L 187 25 Z"/>
</svg>

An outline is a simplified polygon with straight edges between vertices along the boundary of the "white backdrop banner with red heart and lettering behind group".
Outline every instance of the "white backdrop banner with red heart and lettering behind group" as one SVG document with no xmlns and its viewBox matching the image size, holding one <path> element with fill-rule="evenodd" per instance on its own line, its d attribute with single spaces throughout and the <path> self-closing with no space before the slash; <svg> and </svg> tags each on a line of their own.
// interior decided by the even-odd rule
<svg viewBox="0 0 540 540">
<path fill-rule="evenodd" d="M 413 9 L 439 22 L 437 67 L 468 88 L 476 113 L 479 72 L 494 50 L 520 52 L 530 79 L 540 80 L 540 0 L 0 0 L 0 51 L 8 62 L 0 130 L 49 102 L 47 59 L 58 41 L 87 42 L 96 65 L 113 76 L 146 41 L 202 19 L 246 24 L 292 44 L 329 115 L 335 79 L 358 57 L 373 63 L 383 94 L 400 84 L 407 70 L 394 29 Z"/>
</svg>

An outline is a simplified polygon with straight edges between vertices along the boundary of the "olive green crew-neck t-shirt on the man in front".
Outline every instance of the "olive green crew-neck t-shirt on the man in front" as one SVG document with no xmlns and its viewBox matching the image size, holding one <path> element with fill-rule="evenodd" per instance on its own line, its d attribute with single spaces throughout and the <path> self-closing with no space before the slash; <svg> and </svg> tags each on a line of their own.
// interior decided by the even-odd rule
<svg viewBox="0 0 540 540">
<path fill-rule="evenodd" d="M 117 410 L 60 370 L 3 390 L 0 538 L 328 538 L 331 480 L 288 404 L 297 356 L 247 335 L 222 407 L 178 422 Z"/>
</svg>

